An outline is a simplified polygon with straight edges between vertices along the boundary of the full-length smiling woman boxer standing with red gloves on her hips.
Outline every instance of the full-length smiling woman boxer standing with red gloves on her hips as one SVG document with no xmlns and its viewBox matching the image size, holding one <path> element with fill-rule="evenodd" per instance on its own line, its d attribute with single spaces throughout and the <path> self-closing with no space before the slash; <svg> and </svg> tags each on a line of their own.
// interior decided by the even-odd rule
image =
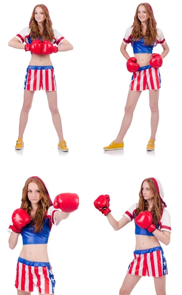
<svg viewBox="0 0 182 295">
<path fill-rule="evenodd" d="M 134 57 L 130 58 L 126 46 L 131 43 Z M 161 44 L 163 52 L 161 55 L 152 54 L 153 47 Z M 115 141 L 104 150 L 123 149 L 123 138 L 131 124 L 133 112 L 143 90 L 149 89 L 149 101 L 151 108 L 151 139 L 147 150 L 154 150 L 155 135 L 159 121 L 158 98 L 161 85 L 159 67 L 162 60 L 169 53 L 169 47 L 165 41 L 161 29 L 156 28 L 153 10 L 149 3 L 138 5 L 134 23 L 126 30 L 121 44 L 121 53 L 127 59 L 126 66 L 129 72 L 133 72 L 125 113 L 122 119 L 121 129 Z"/>
</svg>

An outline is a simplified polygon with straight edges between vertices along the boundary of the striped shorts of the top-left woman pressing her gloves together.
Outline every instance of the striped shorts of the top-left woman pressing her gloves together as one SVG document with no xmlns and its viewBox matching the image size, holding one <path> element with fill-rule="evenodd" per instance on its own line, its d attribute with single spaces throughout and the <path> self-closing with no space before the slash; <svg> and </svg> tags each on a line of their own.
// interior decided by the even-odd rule
<svg viewBox="0 0 182 295">
<path fill-rule="evenodd" d="M 57 90 L 54 67 L 52 65 L 29 65 L 25 76 L 24 89 L 35 91 L 41 88 L 46 91 Z"/>
</svg>

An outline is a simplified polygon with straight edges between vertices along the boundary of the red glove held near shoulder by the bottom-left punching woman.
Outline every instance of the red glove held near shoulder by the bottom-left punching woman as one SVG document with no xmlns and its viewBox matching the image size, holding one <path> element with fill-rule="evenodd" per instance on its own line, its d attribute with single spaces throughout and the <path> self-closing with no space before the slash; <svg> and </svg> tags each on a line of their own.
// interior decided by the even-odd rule
<svg viewBox="0 0 182 295">
<path fill-rule="evenodd" d="M 12 214 L 12 231 L 15 233 L 21 233 L 21 229 L 29 224 L 31 218 L 26 210 L 16 209 Z"/>
</svg>

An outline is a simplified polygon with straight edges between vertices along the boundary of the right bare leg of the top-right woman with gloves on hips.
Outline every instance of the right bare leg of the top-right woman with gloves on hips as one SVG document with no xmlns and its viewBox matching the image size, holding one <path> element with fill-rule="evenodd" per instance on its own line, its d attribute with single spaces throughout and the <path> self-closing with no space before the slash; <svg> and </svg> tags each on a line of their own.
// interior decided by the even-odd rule
<svg viewBox="0 0 182 295">
<path fill-rule="evenodd" d="M 149 102 L 151 108 L 151 139 L 155 141 L 155 134 L 157 132 L 158 121 L 159 121 L 159 110 L 158 110 L 158 90 L 149 90 Z"/>
</svg>

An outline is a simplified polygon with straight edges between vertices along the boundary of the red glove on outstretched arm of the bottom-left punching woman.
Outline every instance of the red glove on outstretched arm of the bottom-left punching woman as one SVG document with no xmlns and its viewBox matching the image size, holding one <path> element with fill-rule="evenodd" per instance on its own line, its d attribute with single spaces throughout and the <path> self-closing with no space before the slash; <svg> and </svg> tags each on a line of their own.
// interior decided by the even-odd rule
<svg viewBox="0 0 182 295">
<path fill-rule="evenodd" d="M 58 195 L 54 200 L 54 208 L 70 213 L 78 209 L 79 196 L 74 193 L 63 193 Z"/>
</svg>

